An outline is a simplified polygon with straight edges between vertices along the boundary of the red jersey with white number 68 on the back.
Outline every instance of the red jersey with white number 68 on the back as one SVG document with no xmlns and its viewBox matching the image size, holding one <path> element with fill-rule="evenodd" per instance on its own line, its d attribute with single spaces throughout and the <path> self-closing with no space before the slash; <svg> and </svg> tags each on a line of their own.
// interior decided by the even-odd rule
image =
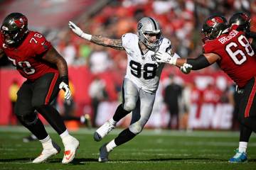
<svg viewBox="0 0 256 170">
<path fill-rule="evenodd" d="M 240 88 L 256 77 L 256 56 L 250 42 L 242 31 L 230 30 L 203 45 L 204 53 L 220 56 L 219 67 L 235 81 Z"/>
</svg>

